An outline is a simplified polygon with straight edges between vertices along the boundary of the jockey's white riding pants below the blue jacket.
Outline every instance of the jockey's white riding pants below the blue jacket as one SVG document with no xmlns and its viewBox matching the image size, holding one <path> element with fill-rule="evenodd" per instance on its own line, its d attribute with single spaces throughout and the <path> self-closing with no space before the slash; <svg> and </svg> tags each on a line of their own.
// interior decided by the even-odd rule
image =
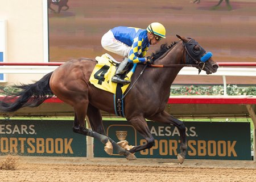
<svg viewBox="0 0 256 182">
<path fill-rule="evenodd" d="M 109 30 L 102 36 L 101 45 L 109 52 L 118 54 L 119 56 L 128 57 L 131 47 L 115 39 L 113 32 Z"/>
</svg>

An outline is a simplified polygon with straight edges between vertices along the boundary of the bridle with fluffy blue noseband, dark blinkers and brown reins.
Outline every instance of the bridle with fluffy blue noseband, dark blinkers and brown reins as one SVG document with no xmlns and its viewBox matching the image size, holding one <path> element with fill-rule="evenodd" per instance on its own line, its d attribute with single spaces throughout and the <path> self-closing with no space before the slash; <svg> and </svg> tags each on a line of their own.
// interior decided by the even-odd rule
<svg viewBox="0 0 256 182">
<path fill-rule="evenodd" d="M 184 43 L 183 41 L 183 55 L 185 54 L 185 56 L 182 57 L 182 62 L 185 64 L 174 64 L 174 65 L 150 65 L 151 67 L 196 67 L 197 69 L 199 69 L 199 73 L 201 70 L 204 69 L 205 66 L 205 62 L 207 60 L 209 60 L 210 57 L 212 57 L 212 53 L 208 52 L 207 54 L 205 54 L 203 56 L 203 54 L 206 52 L 204 50 L 204 48 L 202 48 L 195 39 L 192 39 L 190 37 L 188 37 L 188 39 L 190 39 L 189 41 L 187 41 L 187 43 Z M 199 52 L 195 52 L 193 50 L 194 46 L 198 45 L 200 47 L 200 51 Z M 171 49 L 170 49 L 171 50 Z M 154 57 L 154 55 L 151 55 L 151 57 Z M 185 61 L 184 61 L 184 57 L 185 57 Z M 195 64 L 193 64 L 195 63 Z"/>
</svg>

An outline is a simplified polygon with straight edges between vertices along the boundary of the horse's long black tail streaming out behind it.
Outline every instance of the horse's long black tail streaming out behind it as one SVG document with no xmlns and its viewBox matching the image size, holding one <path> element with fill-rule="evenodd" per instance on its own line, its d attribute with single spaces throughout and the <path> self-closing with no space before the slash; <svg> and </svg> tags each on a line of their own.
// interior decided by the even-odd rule
<svg viewBox="0 0 256 182">
<path fill-rule="evenodd" d="M 52 98 L 54 95 L 49 87 L 49 79 L 52 72 L 44 75 L 42 79 L 32 84 L 22 84 L 12 86 L 16 91 L 3 91 L 7 96 L 0 100 L 0 110 L 4 112 L 14 112 L 22 107 L 37 107 L 44 100 Z"/>
</svg>

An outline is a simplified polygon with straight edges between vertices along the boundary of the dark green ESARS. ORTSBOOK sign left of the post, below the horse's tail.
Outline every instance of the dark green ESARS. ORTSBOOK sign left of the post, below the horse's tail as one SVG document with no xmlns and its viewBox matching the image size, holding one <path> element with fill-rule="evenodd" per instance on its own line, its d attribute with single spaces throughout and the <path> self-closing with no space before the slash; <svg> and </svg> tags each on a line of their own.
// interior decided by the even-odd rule
<svg viewBox="0 0 256 182">
<path fill-rule="evenodd" d="M 86 156 L 86 137 L 73 121 L 0 120 L 0 155 Z"/>
</svg>

